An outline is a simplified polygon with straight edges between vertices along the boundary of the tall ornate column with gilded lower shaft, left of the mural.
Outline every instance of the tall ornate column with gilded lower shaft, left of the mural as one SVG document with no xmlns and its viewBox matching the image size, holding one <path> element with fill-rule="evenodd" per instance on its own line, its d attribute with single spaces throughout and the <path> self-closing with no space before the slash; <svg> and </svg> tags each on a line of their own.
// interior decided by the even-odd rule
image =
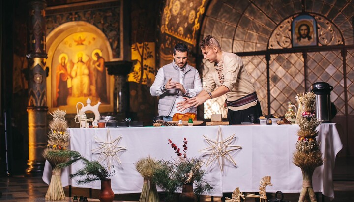
<svg viewBox="0 0 354 202">
<path fill-rule="evenodd" d="M 27 176 L 41 176 L 45 159 L 42 156 L 47 144 L 47 93 L 46 93 L 46 23 L 45 0 L 28 1 L 28 117 L 29 160 Z"/>
</svg>

